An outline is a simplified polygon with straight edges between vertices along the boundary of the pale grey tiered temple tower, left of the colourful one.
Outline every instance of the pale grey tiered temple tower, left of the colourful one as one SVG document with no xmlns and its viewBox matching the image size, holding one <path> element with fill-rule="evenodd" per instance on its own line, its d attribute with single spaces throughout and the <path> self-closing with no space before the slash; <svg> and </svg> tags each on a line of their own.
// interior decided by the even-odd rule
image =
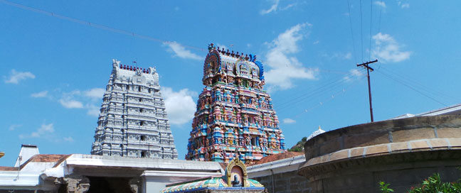
<svg viewBox="0 0 461 193">
<path fill-rule="evenodd" d="M 112 66 L 91 154 L 177 159 L 155 67 Z"/>
</svg>

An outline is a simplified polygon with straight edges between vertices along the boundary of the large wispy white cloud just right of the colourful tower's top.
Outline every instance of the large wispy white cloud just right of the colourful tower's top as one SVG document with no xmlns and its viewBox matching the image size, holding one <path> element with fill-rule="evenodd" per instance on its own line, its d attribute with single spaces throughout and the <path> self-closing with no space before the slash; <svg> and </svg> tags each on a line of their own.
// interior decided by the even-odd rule
<svg viewBox="0 0 461 193">
<path fill-rule="evenodd" d="M 290 56 L 300 51 L 297 42 L 302 40 L 302 31 L 306 26 L 312 24 L 297 24 L 267 43 L 270 50 L 266 55 L 266 64 L 270 70 L 265 72 L 265 81 L 272 85 L 269 89 L 290 89 L 293 87 L 292 79 L 315 79 L 317 69 L 303 67 L 297 57 Z"/>
</svg>

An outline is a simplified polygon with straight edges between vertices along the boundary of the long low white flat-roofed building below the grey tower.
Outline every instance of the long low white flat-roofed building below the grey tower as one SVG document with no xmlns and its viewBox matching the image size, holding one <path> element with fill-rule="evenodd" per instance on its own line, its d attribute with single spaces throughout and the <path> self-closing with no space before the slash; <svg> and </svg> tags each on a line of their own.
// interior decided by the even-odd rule
<svg viewBox="0 0 461 193">
<path fill-rule="evenodd" d="M 0 192 L 161 192 L 166 184 L 224 173 L 218 162 L 38 154 L 0 167 Z"/>
</svg>

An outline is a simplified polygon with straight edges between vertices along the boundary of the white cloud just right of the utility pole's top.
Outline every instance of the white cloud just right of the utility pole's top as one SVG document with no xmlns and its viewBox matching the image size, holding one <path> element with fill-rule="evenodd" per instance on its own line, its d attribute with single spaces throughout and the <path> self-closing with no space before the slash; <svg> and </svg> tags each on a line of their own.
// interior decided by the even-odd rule
<svg viewBox="0 0 461 193">
<path fill-rule="evenodd" d="M 410 58 L 411 52 L 401 51 L 401 45 L 391 35 L 377 33 L 373 35 L 375 49 L 371 52 L 373 57 L 378 57 L 382 62 L 401 62 Z"/>
</svg>

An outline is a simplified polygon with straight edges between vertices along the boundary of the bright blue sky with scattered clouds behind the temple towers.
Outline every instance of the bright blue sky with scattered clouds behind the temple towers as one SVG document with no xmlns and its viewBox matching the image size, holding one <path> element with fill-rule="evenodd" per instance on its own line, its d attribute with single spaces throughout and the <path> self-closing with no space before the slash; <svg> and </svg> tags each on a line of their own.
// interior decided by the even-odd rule
<svg viewBox="0 0 461 193">
<path fill-rule="evenodd" d="M 375 121 L 460 103 L 461 1 L 8 2 L 53 16 L 0 1 L 3 166 L 22 143 L 90 153 L 112 59 L 157 67 L 184 159 L 208 43 L 265 64 L 288 147 L 318 126 L 369 122 L 356 63 L 370 59 Z"/>
</svg>

